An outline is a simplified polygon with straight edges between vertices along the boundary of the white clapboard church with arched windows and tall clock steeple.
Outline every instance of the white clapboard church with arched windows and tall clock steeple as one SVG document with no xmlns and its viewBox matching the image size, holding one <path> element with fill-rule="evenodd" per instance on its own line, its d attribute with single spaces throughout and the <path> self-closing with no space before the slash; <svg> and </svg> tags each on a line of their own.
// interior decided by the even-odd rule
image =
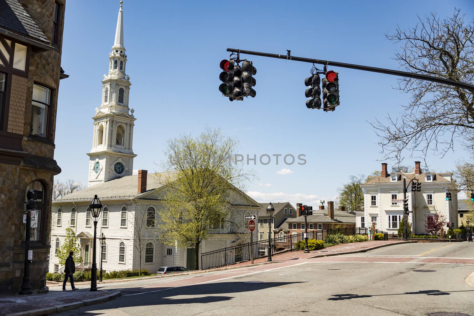
<svg viewBox="0 0 474 316">
<path fill-rule="evenodd" d="M 140 255 L 134 247 L 134 222 L 136 216 L 146 217 L 146 248 L 142 253 L 142 268 L 156 271 L 160 266 L 181 265 L 190 270 L 194 267 L 194 248 L 165 246 L 158 241 L 156 227 L 159 224 L 157 210 L 162 207 L 159 191 L 163 189 L 159 178 L 165 174 L 148 174 L 139 170 L 132 175 L 133 127 L 136 118 L 129 108 L 129 77 L 126 74 L 127 55 L 123 38 L 123 10 L 118 11 L 117 29 L 112 51 L 109 53 L 108 75 L 102 80 L 102 101 L 93 116 L 93 141 L 89 155 L 88 187 L 53 202 L 51 229 L 51 272 L 61 269 L 57 249 L 64 242 L 65 229 L 70 227 L 80 240 L 83 263 L 92 262 L 94 224 L 89 204 L 97 194 L 103 205 L 97 224 L 97 236 L 104 234 L 103 269 L 138 269 Z M 261 206 L 243 192 L 232 195 L 228 205 L 232 219 L 215 226 L 210 238 L 200 245 L 201 252 L 231 246 L 245 237 L 244 214 L 256 215 Z M 142 234 L 143 236 L 143 234 Z M 100 246 L 97 240 L 97 263 L 100 262 Z M 200 258 L 201 259 L 201 258 Z"/>
</svg>

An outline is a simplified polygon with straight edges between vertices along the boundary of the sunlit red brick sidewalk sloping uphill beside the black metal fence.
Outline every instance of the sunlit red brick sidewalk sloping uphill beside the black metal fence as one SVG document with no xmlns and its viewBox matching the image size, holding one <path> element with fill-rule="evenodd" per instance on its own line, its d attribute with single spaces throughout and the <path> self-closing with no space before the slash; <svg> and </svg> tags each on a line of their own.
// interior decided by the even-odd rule
<svg viewBox="0 0 474 316">
<path fill-rule="evenodd" d="M 362 243 L 341 244 L 337 246 L 331 246 L 328 248 L 310 251 L 309 254 L 305 254 L 302 250 L 289 251 L 283 254 L 273 255 L 272 261 L 284 262 L 288 260 L 314 258 L 316 256 L 341 255 L 341 254 L 350 253 L 350 252 L 364 252 L 364 251 L 367 251 L 367 249 L 369 248 L 384 247 L 384 246 L 390 246 L 392 244 L 396 245 L 396 244 L 414 243 L 414 242 L 416 241 L 405 242 L 405 241 L 400 241 L 400 240 L 371 240 L 371 241 L 365 241 Z M 254 264 L 266 263 L 267 259 L 268 257 L 254 259 Z M 250 264 L 250 261 L 231 264 L 231 265 L 228 265 L 228 267 L 237 267 L 237 266 L 248 265 L 248 264 Z M 216 269 L 219 269 L 219 268 L 216 268 Z M 208 270 L 213 270 L 213 269 L 208 269 Z"/>
</svg>

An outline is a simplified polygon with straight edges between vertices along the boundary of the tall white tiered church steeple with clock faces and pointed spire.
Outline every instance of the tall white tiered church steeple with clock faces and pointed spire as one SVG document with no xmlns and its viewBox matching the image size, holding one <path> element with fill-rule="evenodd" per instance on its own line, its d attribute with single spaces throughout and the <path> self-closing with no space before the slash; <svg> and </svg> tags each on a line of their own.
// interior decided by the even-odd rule
<svg viewBox="0 0 474 316">
<path fill-rule="evenodd" d="M 88 185 L 106 182 L 133 171 L 134 110 L 128 107 L 130 77 L 125 73 L 127 55 L 123 45 L 123 10 L 120 1 L 117 28 L 112 52 L 109 53 L 109 73 L 102 80 L 102 101 L 96 108 L 92 149 L 89 155 Z"/>
</svg>

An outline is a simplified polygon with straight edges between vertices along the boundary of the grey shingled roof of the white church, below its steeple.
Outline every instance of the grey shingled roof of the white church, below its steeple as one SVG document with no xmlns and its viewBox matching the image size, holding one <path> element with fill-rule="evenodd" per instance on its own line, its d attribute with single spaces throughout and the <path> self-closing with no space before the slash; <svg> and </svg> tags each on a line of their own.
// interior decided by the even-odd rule
<svg viewBox="0 0 474 316">
<path fill-rule="evenodd" d="M 146 176 L 146 191 L 153 190 L 163 186 L 161 181 L 167 176 L 170 176 L 169 172 L 158 172 L 149 173 Z M 81 191 L 77 191 L 64 196 L 58 201 L 71 201 L 71 200 L 92 200 L 94 194 L 97 194 L 99 199 L 111 199 L 111 198 L 134 198 L 140 194 L 138 193 L 138 175 L 123 176 L 118 179 L 110 180 L 104 183 L 95 184 L 89 186 Z"/>
</svg>

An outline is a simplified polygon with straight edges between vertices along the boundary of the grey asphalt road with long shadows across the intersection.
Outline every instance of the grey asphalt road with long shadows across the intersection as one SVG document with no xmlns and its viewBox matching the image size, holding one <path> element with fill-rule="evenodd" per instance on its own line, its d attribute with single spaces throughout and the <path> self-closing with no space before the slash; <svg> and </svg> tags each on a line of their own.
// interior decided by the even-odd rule
<svg viewBox="0 0 474 316">
<path fill-rule="evenodd" d="M 361 254 L 103 284 L 101 290 L 121 290 L 122 296 L 64 315 L 474 316 L 474 287 L 465 282 L 473 271 L 474 243 L 404 244 Z"/>
</svg>

